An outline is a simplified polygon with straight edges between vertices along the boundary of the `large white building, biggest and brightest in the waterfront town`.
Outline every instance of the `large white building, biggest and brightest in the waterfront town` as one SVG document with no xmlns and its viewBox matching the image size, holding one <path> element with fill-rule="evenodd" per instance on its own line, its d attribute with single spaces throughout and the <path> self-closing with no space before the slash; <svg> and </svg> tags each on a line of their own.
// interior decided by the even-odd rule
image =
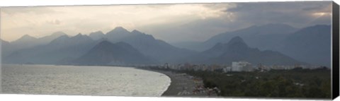
<svg viewBox="0 0 340 101">
<path fill-rule="evenodd" d="M 252 71 L 251 64 L 246 61 L 233 61 L 232 71 Z"/>
</svg>

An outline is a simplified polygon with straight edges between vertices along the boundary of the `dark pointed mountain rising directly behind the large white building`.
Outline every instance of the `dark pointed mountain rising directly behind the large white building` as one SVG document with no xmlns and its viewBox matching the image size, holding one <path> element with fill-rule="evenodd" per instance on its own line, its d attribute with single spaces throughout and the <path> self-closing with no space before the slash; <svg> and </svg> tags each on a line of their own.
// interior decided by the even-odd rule
<svg viewBox="0 0 340 101">
<path fill-rule="evenodd" d="M 193 63 L 231 64 L 232 61 L 248 61 L 251 64 L 293 65 L 304 64 L 280 52 L 260 51 L 249 47 L 241 37 L 233 37 L 226 44 L 217 43 L 214 47 L 187 58 Z"/>
</svg>

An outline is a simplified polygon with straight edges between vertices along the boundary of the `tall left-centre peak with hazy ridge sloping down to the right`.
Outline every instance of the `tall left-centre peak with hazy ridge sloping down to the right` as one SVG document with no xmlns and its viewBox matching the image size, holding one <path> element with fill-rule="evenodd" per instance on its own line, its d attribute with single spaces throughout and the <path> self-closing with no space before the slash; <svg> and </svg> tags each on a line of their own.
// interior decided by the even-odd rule
<svg viewBox="0 0 340 101">
<path fill-rule="evenodd" d="M 162 40 L 155 39 L 152 35 L 147 35 L 138 30 L 129 32 L 122 27 L 115 28 L 106 34 L 110 42 L 126 42 L 135 47 L 147 57 L 157 59 L 161 64 L 176 61 L 182 57 L 187 57 L 193 53 L 188 49 L 180 49 Z"/>
</svg>

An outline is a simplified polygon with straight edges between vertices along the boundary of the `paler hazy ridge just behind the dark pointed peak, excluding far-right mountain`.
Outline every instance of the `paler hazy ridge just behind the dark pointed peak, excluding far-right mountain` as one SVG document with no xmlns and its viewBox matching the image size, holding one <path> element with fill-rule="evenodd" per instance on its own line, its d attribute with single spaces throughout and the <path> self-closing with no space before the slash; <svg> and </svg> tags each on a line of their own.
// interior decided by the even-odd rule
<svg viewBox="0 0 340 101">
<path fill-rule="evenodd" d="M 180 43 L 182 45 L 176 44 L 176 46 L 203 51 L 210 49 L 219 42 L 227 43 L 232 37 L 239 36 L 242 37 L 246 43 L 249 43 L 249 47 L 257 47 L 261 50 L 274 49 L 273 47 L 275 47 L 278 42 L 296 30 L 296 28 L 285 24 L 253 25 L 249 28 L 215 35 L 205 42 L 185 42 Z M 186 46 L 183 46 L 183 44 L 186 44 Z"/>
</svg>

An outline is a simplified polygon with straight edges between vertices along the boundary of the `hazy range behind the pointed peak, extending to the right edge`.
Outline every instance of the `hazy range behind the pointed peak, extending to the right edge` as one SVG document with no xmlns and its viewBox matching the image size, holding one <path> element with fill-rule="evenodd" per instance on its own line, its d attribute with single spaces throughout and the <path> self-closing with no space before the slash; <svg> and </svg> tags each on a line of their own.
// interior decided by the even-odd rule
<svg viewBox="0 0 340 101">
<path fill-rule="evenodd" d="M 285 24 L 253 25 L 249 28 L 223 32 L 204 42 L 181 42 L 176 47 L 203 52 L 217 43 L 227 43 L 232 37 L 242 37 L 249 47 L 272 50 L 297 61 L 330 67 L 331 25 L 293 28 Z"/>
</svg>

